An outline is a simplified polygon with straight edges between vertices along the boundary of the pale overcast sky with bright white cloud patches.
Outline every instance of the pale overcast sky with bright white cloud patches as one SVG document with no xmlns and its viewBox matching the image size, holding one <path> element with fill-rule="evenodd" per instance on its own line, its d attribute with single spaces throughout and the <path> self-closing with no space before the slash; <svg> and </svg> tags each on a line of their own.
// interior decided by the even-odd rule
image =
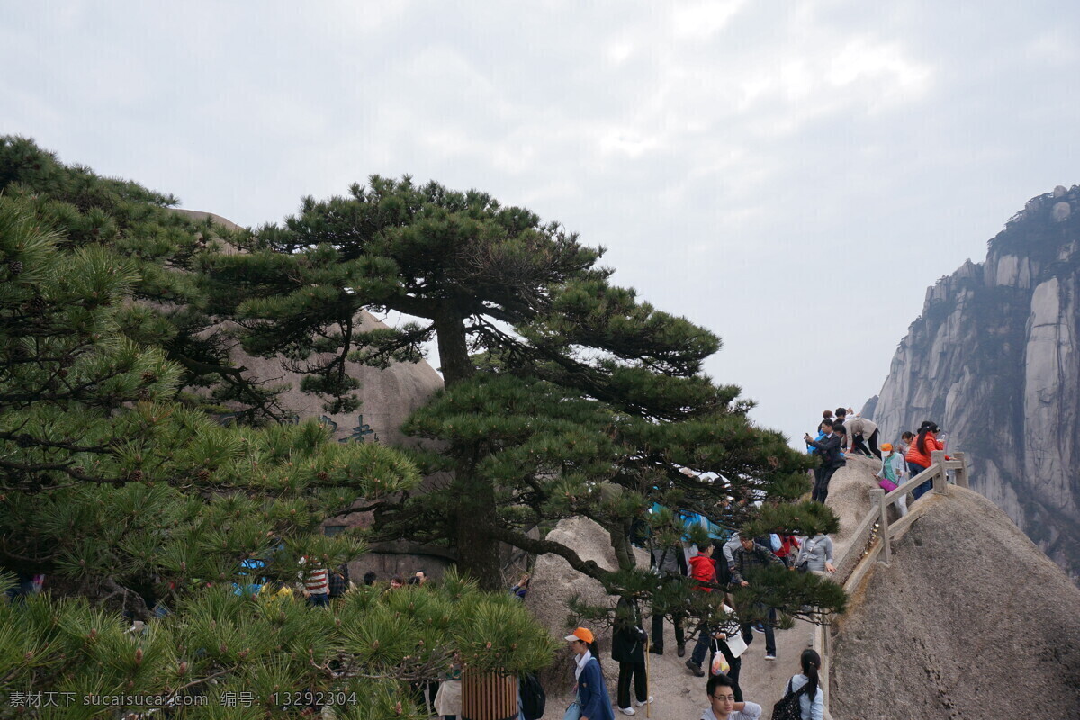
<svg viewBox="0 0 1080 720">
<path fill-rule="evenodd" d="M 3 5 L 0 133 L 245 226 L 375 173 L 485 190 L 721 336 L 792 437 L 1080 182 L 1070 2 Z"/>
</svg>

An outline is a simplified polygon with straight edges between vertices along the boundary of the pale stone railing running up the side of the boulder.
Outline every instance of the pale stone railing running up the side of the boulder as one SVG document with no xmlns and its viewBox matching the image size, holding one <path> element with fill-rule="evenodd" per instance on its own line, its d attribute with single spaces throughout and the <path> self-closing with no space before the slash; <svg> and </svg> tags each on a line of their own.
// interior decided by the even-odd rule
<svg viewBox="0 0 1080 720">
<path fill-rule="evenodd" d="M 956 474 L 956 485 L 961 488 L 968 487 L 968 460 L 963 452 L 954 452 L 949 460 L 945 459 L 944 450 L 934 450 L 930 453 L 930 466 L 907 480 L 892 492 L 887 493 L 881 488 L 870 490 L 870 511 L 863 517 L 851 534 L 851 542 L 847 548 L 836 558 L 836 572 L 833 580 L 843 586 L 850 595 L 874 569 L 877 562 L 888 566 L 892 555 L 893 541 L 900 540 L 912 527 L 916 517 L 921 515 L 921 508 L 916 506 L 899 520 L 889 521 L 889 506 L 927 480 L 933 481 L 932 492 L 945 494 L 948 490 L 946 471 Z M 899 510 L 897 510 L 899 514 Z M 813 649 L 821 655 L 821 673 L 819 674 L 821 689 L 825 695 L 825 720 L 833 720 L 828 710 L 829 696 L 829 665 L 832 638 L 829 625 L 820 623 L 814 625 Z"/>
</svg>

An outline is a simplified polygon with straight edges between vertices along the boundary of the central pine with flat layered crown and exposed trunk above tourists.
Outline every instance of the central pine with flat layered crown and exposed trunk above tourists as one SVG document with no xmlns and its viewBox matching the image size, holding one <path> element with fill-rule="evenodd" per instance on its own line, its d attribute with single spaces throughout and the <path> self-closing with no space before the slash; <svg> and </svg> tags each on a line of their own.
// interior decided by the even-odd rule
<svg viewBox="0 0 1080 720">
<path fill-rule="evenodd" d="M 329 407 L 351 402 L 346 359 L 415 359 L 437 343 L 446 389 L 403 430 L 436 440 L 418 461 L 450 479 L 382 505 L 377 531 L 455 547 L 485 586 L 501 582 L 505 543 L 555 553 L 616 594 L 658 593 L 625 547 L 647 517 L 658 536 L 681 533 L 675 515 L 647 515 L 651 503 L 739 526 L 769 521 L 755 501 L 808 488 L 810 461 L 748 420 L 737 386 L 702 372 L 716 336 L 612 285 L 603 249 L 526 209 L 376 176 L 347 198 L 306 199 L 244 248 L 207 266 L 232 290 L 221 311 L 249 352 L 322 353 L 305 386 Z M 363 332 L 362 309 L 417 320 Z M 619 572 L 528 534 L 571 515 L 610 530 Z M 804 530 L 835 524 L 820 506 L 801 515 Z M 838 609 L 841 598 L 816 599 Z"/>
</svg>

